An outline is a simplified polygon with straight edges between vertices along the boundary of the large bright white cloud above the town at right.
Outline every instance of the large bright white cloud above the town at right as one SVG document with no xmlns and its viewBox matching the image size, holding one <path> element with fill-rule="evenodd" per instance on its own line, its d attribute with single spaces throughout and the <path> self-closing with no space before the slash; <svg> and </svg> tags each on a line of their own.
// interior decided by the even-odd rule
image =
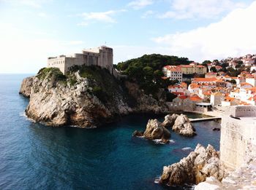
<svg viewBox="0 0 256 190">
<path fill-rule="evenodd" d="M 235 9 L 219 23 L 184 33 L 171 33 L 155 39 L 171 54 L 192 60 L 213 60 L 256 52 L 256 1 L 244 9 Z"/>
</svg>

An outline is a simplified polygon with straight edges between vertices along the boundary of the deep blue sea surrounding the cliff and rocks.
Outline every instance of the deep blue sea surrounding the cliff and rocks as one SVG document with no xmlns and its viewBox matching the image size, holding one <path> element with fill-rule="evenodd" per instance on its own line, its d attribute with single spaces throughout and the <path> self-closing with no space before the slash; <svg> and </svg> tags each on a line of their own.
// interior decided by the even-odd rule
<svg viewBox="0 0 256 190">
<path fill-rule="evenodd" d="M 48 127 L 24 115 L 29 99 L 19 95 L 22 79 L 31 74 L 0 74 L 0 189 L 192 189 L 154 183 L 165 165 L 178 162 L 208 143 L 219 150 L 219 122 L 197 122 L 197 135 L 171 132 L 171 142 L 132 137 L 148 119 L 124 116 L 94 129 Z M 191 118 L 202 117 L 188 114 Z"/>
</svg>

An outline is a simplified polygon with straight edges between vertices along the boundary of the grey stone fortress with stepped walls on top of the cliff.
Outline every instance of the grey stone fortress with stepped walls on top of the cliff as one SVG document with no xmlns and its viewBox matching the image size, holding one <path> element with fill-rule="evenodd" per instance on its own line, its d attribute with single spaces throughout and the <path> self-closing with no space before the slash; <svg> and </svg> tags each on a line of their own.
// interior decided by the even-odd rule
<svg viewBox="0 0 256 190">
<path fill-rule="evenodd" d="M 113 68 L 113 49 L 106 46 L 82 50 L 82 53 L 73 55 L 59 55 L 58 57 L 48 58 L 47 66 L 56 67 L 63 74 L 67 74 L 72 66 L 100 66 L 110 71 L 110 74 L 116 76 L 116 70 Z"/>
</svg>

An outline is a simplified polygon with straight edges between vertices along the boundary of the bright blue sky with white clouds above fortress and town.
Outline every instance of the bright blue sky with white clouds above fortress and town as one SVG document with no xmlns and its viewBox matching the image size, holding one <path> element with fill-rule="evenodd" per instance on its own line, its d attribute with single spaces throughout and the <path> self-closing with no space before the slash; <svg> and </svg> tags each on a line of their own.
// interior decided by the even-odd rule
<svg viewBox="0 0 256 190">
<path fill-rule="evenodd" d="M 0 73 L 37 73 L 47 58 L 113 47 L 189 60 L 256 54 L 252 0 L 0 0 Z"/>
</svg>

